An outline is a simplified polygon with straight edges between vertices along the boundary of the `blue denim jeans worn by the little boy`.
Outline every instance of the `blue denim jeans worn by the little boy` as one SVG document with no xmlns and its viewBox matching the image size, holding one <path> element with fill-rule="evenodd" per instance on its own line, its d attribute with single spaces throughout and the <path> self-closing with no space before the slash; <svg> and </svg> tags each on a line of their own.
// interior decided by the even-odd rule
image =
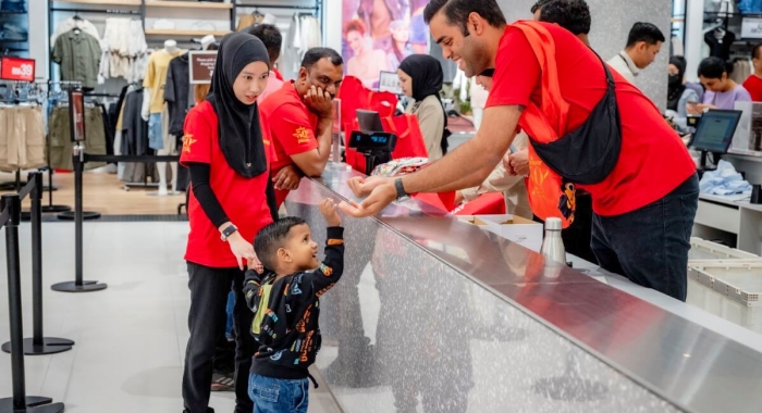
<svg viewBox="0 0 762 413">
<path fill-rule="evenodd" d="M 248 393 L 254 413 L 307 413 L 309 379 L 287 380 L 250 374 Z"/>
</svg>

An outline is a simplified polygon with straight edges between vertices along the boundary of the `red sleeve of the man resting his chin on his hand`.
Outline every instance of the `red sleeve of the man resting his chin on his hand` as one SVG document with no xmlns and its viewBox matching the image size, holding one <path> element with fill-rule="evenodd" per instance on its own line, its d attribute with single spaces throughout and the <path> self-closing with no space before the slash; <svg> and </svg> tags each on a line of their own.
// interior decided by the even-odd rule
<svg viewBox="0 0 762 413">
<path fill-rule="evenodd" d="M 279 107 L 271 116 L 271 137 L 278 140 L 287 155 L 309 152 L 318 148 L 309 115 L 303 108 L 286 103 Z"/>
</svg>

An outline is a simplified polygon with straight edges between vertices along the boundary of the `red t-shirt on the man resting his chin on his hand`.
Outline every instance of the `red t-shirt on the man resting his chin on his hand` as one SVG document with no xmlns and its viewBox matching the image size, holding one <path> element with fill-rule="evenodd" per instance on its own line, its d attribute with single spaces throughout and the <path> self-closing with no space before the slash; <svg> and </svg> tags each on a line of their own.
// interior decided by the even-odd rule
<svg viewBox="0 0 762 413">
<path fill-rule="evenodd" d="M 318 139 L 315 137 L 318 115 L 307 109 L 293 80 L 284 83 L 280 90 L 267 97 L 259 110 L 272 121 L 270 136 L 276 159 L 272 163 L 272 176 L 284 166 L 294 164 L 291 157 L 318 148 Z M 287 195 L 287 190 L 275 191 L 279 206 Z"/>
</svg>

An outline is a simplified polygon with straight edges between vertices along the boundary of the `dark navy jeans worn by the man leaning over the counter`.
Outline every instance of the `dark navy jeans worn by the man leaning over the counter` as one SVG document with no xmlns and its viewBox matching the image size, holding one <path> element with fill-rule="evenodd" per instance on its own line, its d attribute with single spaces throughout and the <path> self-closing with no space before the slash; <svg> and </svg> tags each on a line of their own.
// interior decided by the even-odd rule
<svg viewBox="0 0 762 413">
<path fill-rule="evenodd" d="M 601 267 L 685 301 L 698 205 L 699 178 L 693 175 L 639 210 L 617 216 L 594 214 L 591 248 Z"/>
</svg>

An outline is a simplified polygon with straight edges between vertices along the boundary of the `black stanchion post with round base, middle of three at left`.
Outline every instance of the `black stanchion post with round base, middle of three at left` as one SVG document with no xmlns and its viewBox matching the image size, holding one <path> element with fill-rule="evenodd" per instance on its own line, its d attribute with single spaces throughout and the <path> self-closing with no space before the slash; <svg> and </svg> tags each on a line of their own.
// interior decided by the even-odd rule
<svg viewBox="0 0 762 413">
<path fill-rule="evenodd" d="M 29 192 L 32 208 L 32 320 L 33 336 L 24 339 L 24 354 L 54 354 L 72 349 L 74 341 L 65 338 L 45 337 L 42 333 L 42 173 L 29 173 L 28 182 L 34 183 Z M 11 342 L 2 345 L 2 351 L 10 353 Z"/>
</svg>

